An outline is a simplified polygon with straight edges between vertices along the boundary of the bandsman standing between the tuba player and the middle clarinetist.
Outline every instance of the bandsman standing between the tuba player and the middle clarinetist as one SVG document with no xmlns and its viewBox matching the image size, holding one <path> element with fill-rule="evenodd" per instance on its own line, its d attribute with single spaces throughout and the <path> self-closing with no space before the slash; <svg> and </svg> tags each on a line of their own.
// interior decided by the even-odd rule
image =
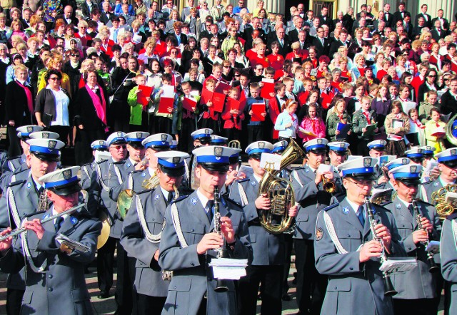
<svg viewBox="0 0 457 315">
<path fill-rule="evenodd" d="M 323 190 L 323 177 L 333 180 L 333 172 L 321 172 L 319 165 L 325 162 L 328 141 L 317 138 L 307 141 L 306 165 L 293 170 L 291 175 L 295 191 L 298 215 L 293 236 L 297 268 L 298 309 L 303 314 L 320 314 L 327 277 L 319 274 L 314 265 L 314 231 L 318 212 L 330 205 L 331 193 Z M 311 291 L 311 288 L 313 290 Z"/>
</svg>

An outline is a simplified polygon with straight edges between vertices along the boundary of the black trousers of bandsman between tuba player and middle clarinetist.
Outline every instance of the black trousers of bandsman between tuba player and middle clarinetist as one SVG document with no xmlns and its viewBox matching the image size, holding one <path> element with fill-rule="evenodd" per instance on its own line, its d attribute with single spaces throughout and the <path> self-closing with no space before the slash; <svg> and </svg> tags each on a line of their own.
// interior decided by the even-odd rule
<svg viewBox="0 0 457 315">
<path fill-rule="evenodd" d="M 314 262 L 312 239 L 294 239 L 297 268 L 297 303 L 302 314 L 321 314 L 326 295 L 326 276 L 319 274 Z"/>
</svg>

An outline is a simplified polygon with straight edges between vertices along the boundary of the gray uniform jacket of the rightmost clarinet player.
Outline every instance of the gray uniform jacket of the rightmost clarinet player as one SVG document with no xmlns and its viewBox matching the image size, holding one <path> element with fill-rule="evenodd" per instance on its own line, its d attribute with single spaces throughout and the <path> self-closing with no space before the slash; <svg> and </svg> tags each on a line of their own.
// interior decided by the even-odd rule
<svg viewBox="0 0 457 315">
<path fill-rule="evenodd" d="M 396 197 L 393 202 L 383 205 L 391 211 L 395 217 L 398 234 L 400 234 L 406 254 L 409 257 L 416 257 L 418 265 L 416 268 L 400 274 L 392 274 L 393 287 L 398 294 L 393 299 L 431 299 L 436 297 L 436 273 L 428 272 L 427 254 L 423 244 L 414 244 L 413 232 L 417 229 L 416 217 L 411 215 L 408 207 Z M 431 240 L 438 240 L 441 233 L 441 223 L 436 209 L 425 202 L 418 202 L 420 212 L 433 224 Z M 438 255 L 435 255 L 438 257 Z"/>
</svg>

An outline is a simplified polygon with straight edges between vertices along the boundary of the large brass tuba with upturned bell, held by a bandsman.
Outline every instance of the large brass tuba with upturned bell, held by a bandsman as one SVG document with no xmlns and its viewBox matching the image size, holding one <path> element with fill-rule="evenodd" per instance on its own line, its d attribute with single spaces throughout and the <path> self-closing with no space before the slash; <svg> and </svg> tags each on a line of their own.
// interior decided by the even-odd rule
<svg viewBox="0 0 457 315">
<path fill-rule="evenodd" d="M 291 226 L 293 218 L 289 217 L 288 210 L 295 205 L 295 192 L 291 182 L 278 177 L 278 174 L 304 156 L 303 150 L 291 138 L 286 150 L 281 154 L 280 170 L 266 170 L 259 183 L 258 196 L 266 194 L 271 200 L 271 209 L 261 211 L 260 223 L 272 234 L 280 234 Z M 274 222 L 279 221 L 279 218 L 281 223 Z"/>
</svg>

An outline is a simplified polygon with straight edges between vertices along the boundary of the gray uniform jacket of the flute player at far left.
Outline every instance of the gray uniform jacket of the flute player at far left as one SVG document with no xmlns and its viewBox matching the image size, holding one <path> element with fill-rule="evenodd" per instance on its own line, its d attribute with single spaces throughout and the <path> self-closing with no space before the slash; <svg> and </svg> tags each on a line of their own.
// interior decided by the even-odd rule
<svg viewBox="0 0 457 315">
<path fill-rule="evenodd" d="M 52 210 L 34 215 L 29 220 L 50 215 Z M 41 240 L 31 231 L 22 234 L 27 239 L 35 266 L 40 267 L 46 261 L 47 267 L 44 273 L 36 273 L 29 262 L 26 263 L 26 291 L 21 314 L 92 314 L 84 265 L 94 260 L 101 222 L 76 213 L 66 218 L 59 231 L 56 231 L 52 220 L 44 223 L 43 227 L 46 231 Z M 71 254 L 61 252 L 55 239 L 57 232 L 81 242 L 89 247 L 89 251 L 75 250 Z M 16 242 L 16 245 L 20 244 Z M 21 246 L 10 249 L 0 259 L 2 272 L 18 272 L 22 267 L 24 255 Z"/>
</svg>

